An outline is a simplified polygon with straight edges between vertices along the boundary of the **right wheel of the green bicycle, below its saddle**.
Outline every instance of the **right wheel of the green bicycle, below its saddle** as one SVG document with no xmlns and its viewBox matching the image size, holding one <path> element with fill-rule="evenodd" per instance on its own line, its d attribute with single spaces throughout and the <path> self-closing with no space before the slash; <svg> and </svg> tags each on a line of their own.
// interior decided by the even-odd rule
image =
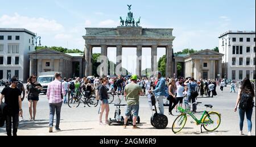
<svg viewBox="0 0 256 147">
<path fill-rule="evenodd" d="M 210 121 L 212 120 L 212 121 Z M 215 131 L 221 124 L 221 116 L 217 112 L 209 112 L 209 116 L 205 115 L 203 119 L 203 127 L 206 131 Z"/>
</svg>

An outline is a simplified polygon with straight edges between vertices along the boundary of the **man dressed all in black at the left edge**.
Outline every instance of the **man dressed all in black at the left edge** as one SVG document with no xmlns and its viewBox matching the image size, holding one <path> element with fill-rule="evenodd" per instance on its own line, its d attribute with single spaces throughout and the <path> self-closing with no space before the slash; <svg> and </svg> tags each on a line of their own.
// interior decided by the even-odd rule
<svg viewBox="0 0 256 147">
<path fill-rule="evenodd" d="M 17 88 L 18 85 L 17 78 L 11 78 L 11 85 L 3 89 L 1 93 L 0 105 L 3 98 L 5 98 L 5 103 L 7 107 L 6 113 L 6 132 L 7 136 L 11 136 L 11 123 L 13 120 L 13 136 L 17 136 L 18 125 L 19 125 L 19 115 L 22 116 L 22 99 L 21 92 Z"/>
</svg>

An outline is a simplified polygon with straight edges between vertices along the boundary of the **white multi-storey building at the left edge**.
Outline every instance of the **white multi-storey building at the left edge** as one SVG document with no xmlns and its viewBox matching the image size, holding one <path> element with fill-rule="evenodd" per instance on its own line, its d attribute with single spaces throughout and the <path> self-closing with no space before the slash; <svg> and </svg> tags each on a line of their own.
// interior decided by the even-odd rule
<svg viewBox="0 0 256 147">
<path fill-rule="evenodd" d="M 20 81 L 29 76 L 28 52 L 35 51 L 32 44 L 34 32 L 24 28 L 0 28 L 0 80 L 10 80 L 16 75 Z"/>
</svg>

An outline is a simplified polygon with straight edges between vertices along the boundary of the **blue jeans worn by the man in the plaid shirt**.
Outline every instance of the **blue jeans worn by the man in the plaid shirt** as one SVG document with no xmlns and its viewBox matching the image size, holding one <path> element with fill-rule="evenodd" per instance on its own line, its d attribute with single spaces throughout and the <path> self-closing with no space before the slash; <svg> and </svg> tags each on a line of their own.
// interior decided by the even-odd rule
<svg viewBox="0 0 256 147">
<path fill-rule="evenodd" d="M 60 111 L 61 111 L 62 102 L 56 104 L 49 104 L 49 127 L 53 127 L 53 119 L 56 111 L 56 126 L 55 128 L 59 129 L 60 127 Z"/>
</svg>

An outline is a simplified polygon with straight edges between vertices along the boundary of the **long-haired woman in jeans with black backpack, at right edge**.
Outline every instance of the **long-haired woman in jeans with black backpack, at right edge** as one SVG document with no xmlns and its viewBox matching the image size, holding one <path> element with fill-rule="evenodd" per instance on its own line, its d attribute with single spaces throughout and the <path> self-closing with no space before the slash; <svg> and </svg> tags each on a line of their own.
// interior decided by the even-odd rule
<svg viewBox="0 0 256 147">
<path fill-rule="evenodd" d="M 234 112 L 237 111 L 237 106 L 239 104 L 239 116 L 240 116 L 240 135 L 243 135 L 243 120 L 245 119 L 245 114 L 248 124 L 248 136 L 251 136 L 251 116 L 253 115 L 254 107 L 254 89 L 251 85 L 250 79 L 243 79 L 242 86 L 238 90 L 238 97 L 236 102 L 236 107 Z"/>
</svg>

